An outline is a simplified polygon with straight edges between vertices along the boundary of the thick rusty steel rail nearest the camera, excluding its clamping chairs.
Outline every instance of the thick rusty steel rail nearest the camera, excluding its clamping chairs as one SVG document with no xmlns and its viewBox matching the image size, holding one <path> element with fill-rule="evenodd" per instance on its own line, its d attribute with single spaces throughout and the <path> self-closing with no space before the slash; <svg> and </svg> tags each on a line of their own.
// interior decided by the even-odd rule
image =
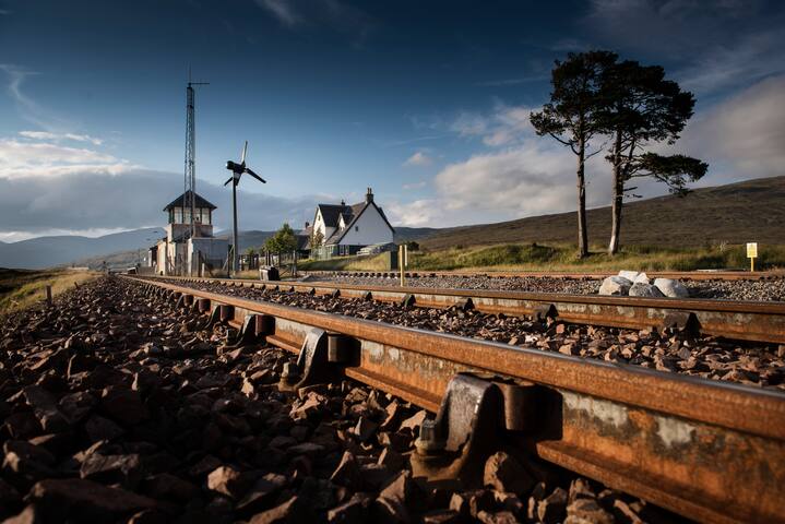
<svg viewBox="0 0 785 524">
<path fill-rule="evenodd" d="M 261 342 L 295 353 L 313 330 L 346 337 L 358 350 L 346 377 L 431 412 L 456 373 L 534 384 L 555 408 L 504 409 L 510 438 L 538 458 L 699 521 L 785 523 L 783 394 L 127 278 L 236 326 L 253 320 Z"/>
</svg>

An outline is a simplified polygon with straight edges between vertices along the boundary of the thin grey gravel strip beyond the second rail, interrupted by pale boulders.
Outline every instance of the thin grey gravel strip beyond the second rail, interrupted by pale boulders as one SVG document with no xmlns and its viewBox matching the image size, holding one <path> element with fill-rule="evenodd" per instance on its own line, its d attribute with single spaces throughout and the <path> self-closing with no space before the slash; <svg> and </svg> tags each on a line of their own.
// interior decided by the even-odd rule
<svg viewBox="0 0 785 524">
<path fill-rule="evenodd" d="M 311 277 L 314 282 L 333 282 L 360 286 L 397 285 L 399 279 L 389 277 L 326 276 Z M 506 291 L 596 294 L 602 279 L 584 277 L 535 276 L 418 276 L 406 279 L 411 287 L 449 289 L 496 289 Z M 770 281 L 683 281 L 695 298 L 725 300 L 777 300 L 785 301 L 785 278 Z"/>
</svg>

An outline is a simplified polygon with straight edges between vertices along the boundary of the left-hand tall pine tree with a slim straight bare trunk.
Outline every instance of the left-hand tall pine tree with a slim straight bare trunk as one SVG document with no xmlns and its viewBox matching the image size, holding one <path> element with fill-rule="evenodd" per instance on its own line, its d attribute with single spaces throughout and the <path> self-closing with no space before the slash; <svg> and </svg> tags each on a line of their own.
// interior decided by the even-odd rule
<svg viewBox="0 0 785 524">
<path fill-rule="evenodd" d="M 610 51 L 569 53 L 563 62 L 557 60 L 551 71 L 550 102 L 539 112 L 532 112 L 532 126 L 540 136 L 550 135 L 570 147 L 578 159 L 578 250 L 588 254 L 586 225 L 586 154 L 588 142 L 597 134 L 596 112 L 600 103 L 600 86 L 606 70 L 616 63 Z"/>
</svg>

